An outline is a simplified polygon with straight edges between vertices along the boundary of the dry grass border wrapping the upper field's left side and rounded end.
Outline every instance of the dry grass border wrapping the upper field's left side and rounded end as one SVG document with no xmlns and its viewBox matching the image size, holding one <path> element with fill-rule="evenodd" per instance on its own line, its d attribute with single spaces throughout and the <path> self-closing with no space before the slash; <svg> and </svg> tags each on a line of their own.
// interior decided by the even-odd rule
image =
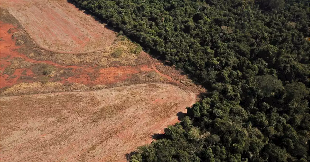
<svg viewBox="0 0 310 162">
<path fill-rule="evenodd" d="M 112 44 L 104 46 L 100 48 L 100 50 L 94 52 L 69 54 L 45 50 L 37 45 L 33 39 L 34 35 L 26 31 L 7 10 L 0 8 L 0 13 L 1 12 L 5 14 L 0 14 L 0 21 L 17 24 L 20 30 L 15 33 L 13 30 L 11 31 L 13 33 L 12 39 L 16 40 L 16 45 L 23 45 L 18 51 L 25 54 L 30 59 L 38 61 L 49 60 L 63 65 L 96 65 L 101 68 L 111 66 L 136 66 L 148 63 L 148 58 L 141 56 L 142 48 L 123 36 L 118 36 Z M 119 56 L 112 57 L 111 55 L 115 50 L 122 50 L 121 55 L 118 54 Z"/>
</svg>

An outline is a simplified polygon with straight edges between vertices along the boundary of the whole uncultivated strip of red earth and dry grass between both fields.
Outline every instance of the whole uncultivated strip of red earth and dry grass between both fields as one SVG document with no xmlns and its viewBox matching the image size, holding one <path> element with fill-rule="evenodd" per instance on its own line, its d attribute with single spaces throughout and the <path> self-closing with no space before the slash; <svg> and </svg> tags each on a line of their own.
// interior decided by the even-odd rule
<svg viewBox="0 0 310 162">
<path fill-rule="evenodd" d="M 0 96 L 98 90 L 154 82 L 175 84 L 195 93 L 201 91 L 175 69 L 163 66 L 143 51 L 135 52 L 138 46 L 127 39 L 120 38 L 99 54 L 49 53 L 36 47 L 18 23 L 8 20 L 0 21 L 0 39 Z M 20 40 L 24 42 L 22 45 L 17 44 Z M 122 55 L 111 57 L 113 50 L 119 48 L 123 49 Z"/>
</svg>

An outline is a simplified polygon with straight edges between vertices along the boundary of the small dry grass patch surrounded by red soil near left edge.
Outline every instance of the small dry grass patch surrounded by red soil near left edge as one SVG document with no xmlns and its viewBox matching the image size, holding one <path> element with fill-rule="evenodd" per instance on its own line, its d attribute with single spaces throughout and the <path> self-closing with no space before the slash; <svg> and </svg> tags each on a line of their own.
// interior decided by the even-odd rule
<svg viewBox="0 0 310 162">
<path fill-rule="evenodd" d="M 32 63 L 25 61 L 24 59 L 17 57 L 10 60 L 11 65 L 7 66 L 3 74 L 12 75 L 16 69 L 29 68 Z"/>
</svg>

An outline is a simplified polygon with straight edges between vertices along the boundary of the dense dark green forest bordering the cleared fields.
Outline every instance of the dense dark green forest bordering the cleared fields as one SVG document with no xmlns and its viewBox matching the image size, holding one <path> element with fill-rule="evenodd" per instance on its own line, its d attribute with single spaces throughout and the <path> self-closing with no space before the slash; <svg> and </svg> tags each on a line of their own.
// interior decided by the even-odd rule
<svg viewBox="0 0 310 162">
<path fill-rule="evenodd" d="M 309 0 L 70 0 L 208 93 L 131 162 L 310 161 Z"/>
</svg>

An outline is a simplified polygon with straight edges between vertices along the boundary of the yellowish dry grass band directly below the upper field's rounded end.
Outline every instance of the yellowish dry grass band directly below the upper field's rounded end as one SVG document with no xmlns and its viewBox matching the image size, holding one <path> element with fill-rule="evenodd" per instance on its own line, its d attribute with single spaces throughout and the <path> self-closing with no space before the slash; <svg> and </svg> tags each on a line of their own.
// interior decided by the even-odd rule
<svg viewBox="0 0 310 162">
<path fill-rule="evenodd" d="M 23 35 L 24 36 L 20 36 Z M 146 57 L 141 57 L 141 47 L 127 38 L 118 39 L 115 43 L 103 48 L 100 51 L 87 54 L 64 54 L 55 53 L 39 48 L 33 41 L 29 41 L 30 36 L 27 32 L 19 32 L 19 37 L 16 39 L 27 43 L 26 46 L 19 49 L 19 52 L 24 53 L 30 59 L 39 61 L 51 60 L 55 63 L 63 65 L 96 65 L 101 68 L 111 66 L 136 66 L 147 63 Z"/>
</svg>

